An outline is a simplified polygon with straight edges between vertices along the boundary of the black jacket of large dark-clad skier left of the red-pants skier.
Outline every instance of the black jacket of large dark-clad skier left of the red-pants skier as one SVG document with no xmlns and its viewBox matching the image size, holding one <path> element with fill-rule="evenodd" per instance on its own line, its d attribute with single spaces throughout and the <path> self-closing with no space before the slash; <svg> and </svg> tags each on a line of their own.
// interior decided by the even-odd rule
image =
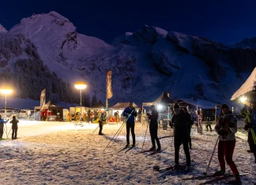
<svg viewBox="0 0 256 185">
<path fill-rule="evenodd" d="M 183 110 L 180 110 L 179 114 L 174 114 L 171 117 L 170 126 L 171 128 L 173 128 L 173 133 L 175 137 L 188 139 L 187 123 L 189 123 L 189 121 L 189 118 Z"/>
</svg>

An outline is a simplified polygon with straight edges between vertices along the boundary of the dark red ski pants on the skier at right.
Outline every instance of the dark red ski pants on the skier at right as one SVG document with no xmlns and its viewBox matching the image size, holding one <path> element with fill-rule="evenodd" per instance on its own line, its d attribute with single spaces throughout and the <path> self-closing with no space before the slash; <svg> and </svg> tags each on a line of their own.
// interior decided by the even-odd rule
<svg viewBox="0 0 256 185">
<path fill-rule="evenodd" d="M 220 169 L 225 169 L 225 160 L 226 160 L 233 172 L 233 175 L 237 176 L 239 175 L 239 172 L 233 161 L 234 149 L 235 149 L 235 140 L 219 141 L 218 143 L 218 159 L 220 162 Z"/>
</svg>

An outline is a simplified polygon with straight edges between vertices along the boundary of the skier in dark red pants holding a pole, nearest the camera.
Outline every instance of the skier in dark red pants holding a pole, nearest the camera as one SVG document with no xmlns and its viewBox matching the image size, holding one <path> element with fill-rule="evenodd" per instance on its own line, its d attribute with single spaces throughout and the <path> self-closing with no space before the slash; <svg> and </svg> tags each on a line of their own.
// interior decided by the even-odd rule
<svg viewBox="0 0 256 185">
<path fill-rule="evenodd" d="M 237 120 L 232 111 L 229 110 L 227 104 L 221 105 L 221 114 L 217 120 L 215 131 L 220 140 L 218 143 L 218 159 L 220 162 L 220 171 L 215 172 L 215 175 L 224 175 L 225 173 L 225 160 L 232 170 L 235 180 L 229 183 L 241 183 L 239 171 L 232 159 L 235 149 L 235 132 L 237 131 Z M 225 159 L 225 160 L 224 160 Z"/>
</svg>

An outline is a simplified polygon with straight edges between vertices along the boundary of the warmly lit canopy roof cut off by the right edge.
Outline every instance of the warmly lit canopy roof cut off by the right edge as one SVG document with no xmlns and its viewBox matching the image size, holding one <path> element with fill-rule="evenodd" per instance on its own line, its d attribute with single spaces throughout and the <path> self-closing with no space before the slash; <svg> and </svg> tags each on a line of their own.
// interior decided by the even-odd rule
<svg viewBox="0 0 256 185">
<path fill-rule="evenodd" d="M 247 81 L 232 95 L 231 100 L 238 100 L 242 96 L 247 96 L 248 99 L 256 100 L 256 68 L 251 72 Z"/>
</svg>

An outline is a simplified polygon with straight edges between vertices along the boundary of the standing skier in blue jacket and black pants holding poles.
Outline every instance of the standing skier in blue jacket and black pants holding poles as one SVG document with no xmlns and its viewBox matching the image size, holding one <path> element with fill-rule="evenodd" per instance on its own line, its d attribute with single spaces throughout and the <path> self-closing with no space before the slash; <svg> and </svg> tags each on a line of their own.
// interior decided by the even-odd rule
<svg viewBox="0 0 256 185">
<path fill-rule="evenodd" d="M 129 102 L 129 106 L 123 110 L 123 117 L 126 117 L 126 147 L 130 146 L 130 131 L 133 136 L 133 147 L 135 146 L 135 117 L 137 117 L 136 109 L 134 108 L 134 103 Z"/>
</svg>

